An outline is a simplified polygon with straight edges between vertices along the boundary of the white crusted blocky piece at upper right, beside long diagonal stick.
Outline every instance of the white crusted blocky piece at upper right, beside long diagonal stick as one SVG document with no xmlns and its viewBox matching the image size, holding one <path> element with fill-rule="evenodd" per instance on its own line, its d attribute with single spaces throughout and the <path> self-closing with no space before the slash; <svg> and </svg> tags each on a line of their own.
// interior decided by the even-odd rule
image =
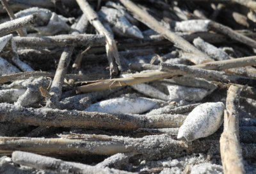
<svg viewBox="0 0 256 174">
<path fill-rule="evenodd" d="M 175 31 L 182 32 L 206 32 L 208 31 L 208 25 L 210 20 L 184 20 L 182 22 L 175 23 Z"/>
</svg>

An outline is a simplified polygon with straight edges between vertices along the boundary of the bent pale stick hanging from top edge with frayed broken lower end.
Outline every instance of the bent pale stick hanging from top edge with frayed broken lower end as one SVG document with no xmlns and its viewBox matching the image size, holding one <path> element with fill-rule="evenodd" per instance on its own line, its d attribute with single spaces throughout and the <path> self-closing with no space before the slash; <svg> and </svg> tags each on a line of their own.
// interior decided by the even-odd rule
<svg viewBox="0 0 256 174">
<path fill-rule="evenodd" d="M 102 23 L 99 21 L 99 17 L 95 11 L 91 8 L 90 4 L 86 0 L 77 0 L 81 10 L 84 12 L 90 23 L 95 29 L 106 36 L 106 52 L 109 61 L 110 75 L 119 75 L 122 71 L 118 50 L 116 47 L 115 40 L 111 37 L 111 34 L 105 29 Z"/>
</svg>

